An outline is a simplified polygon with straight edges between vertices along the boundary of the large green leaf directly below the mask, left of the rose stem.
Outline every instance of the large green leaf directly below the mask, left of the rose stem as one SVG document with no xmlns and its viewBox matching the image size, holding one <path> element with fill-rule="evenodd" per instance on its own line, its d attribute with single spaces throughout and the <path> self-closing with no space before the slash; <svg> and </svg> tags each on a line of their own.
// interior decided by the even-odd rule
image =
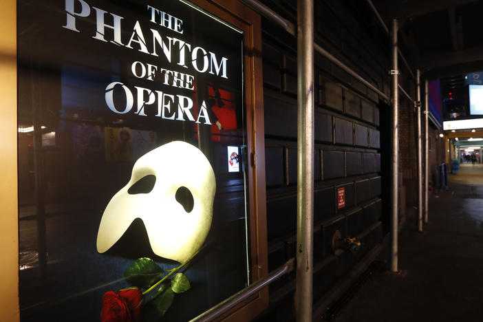
<svg viewBox="0 0 483 322">
<path fill-rule="evenodd" d="M 162 268 L 152 259 L 143 257 L 136 259 L 124 272 L 124 277 L 131 286 L 147 288 L 158 281 L 163 273 Z"/>
</svg>

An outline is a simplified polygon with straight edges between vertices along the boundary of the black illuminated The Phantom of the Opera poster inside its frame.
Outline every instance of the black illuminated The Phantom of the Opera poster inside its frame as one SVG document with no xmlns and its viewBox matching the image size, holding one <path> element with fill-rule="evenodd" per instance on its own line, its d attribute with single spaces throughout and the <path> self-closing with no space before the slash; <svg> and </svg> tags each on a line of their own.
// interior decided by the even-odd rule
<svg viewBox="0 0 483 322">
<path fill-rule="evenodd" d="M 246 287 L 244 34 L 180 0 L 18 7 L 21 320 L 188 321 Z"/>
</svg>

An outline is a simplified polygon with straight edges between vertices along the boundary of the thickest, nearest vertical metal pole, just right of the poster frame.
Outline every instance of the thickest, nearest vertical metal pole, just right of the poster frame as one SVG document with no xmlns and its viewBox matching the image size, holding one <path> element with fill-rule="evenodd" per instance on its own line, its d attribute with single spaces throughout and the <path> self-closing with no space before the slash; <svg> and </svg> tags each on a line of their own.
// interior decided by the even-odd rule
<svg viewBox="0 0 483 322">
<path fill-rule="evenodd" d="M 297 1 L 297 322 L 312 321 L 314 241 L 314 2 Z"/>
</svg>

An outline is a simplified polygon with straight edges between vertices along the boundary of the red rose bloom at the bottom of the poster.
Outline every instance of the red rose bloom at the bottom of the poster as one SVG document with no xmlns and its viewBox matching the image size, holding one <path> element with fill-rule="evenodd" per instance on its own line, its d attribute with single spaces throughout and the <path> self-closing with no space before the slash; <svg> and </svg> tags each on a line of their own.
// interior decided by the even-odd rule
<svg viewBox="0 0 483 322">
<path fill-rule="evenodd" d="M 108 291 L 103 296 L 101 322 L 137 322 L 141 314 L 142 294 L 138 288 L 127 288 L 117 293 Z"/>
</svg>

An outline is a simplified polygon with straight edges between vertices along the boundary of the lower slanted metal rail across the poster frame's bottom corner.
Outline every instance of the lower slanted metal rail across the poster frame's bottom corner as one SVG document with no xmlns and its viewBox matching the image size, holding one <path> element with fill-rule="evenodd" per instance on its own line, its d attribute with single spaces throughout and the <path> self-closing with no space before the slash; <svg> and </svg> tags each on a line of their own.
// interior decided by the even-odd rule
<svg viewBox="0 0 483 322">
<path fill-rule="evenodd" d="M 195 319 L 192 319 L 190 322 L 213 321 L 214 319 L 217 318 L 217 316 L 224 314 L 231 308 L 235 307 L 237 304 L 241 303 L 242 301 L 245 301 L 246 299 L 248 299 L 248 297 L 252 296 L 253 294 L 258 292 L 265 286 L 268 286 L 268 284 L 272 283 L 273 281 L 276 281 L 277 279 L 279 279 L 283 275 L 286 275 L 288 272 L 291 272 L 292 270 L 294 270 L 294 259 L 289 259 L 289 261 L 287 261 L 286 264 L 283 264 L 283 266 L 280 266 L 279 268 L 277 268 L 277 270 L 270 272 L 270 274 L 268 274 L 263 279 L 259 279 L 258 281 L 251 284 L 250 286 L 233 294 L 231 297 L 228 297 L 228 299 L 225 299 L 224 301 L 219 302 L 217 305 L 213 306 L 213 308 L 196 316 Z"/>
</svg>

